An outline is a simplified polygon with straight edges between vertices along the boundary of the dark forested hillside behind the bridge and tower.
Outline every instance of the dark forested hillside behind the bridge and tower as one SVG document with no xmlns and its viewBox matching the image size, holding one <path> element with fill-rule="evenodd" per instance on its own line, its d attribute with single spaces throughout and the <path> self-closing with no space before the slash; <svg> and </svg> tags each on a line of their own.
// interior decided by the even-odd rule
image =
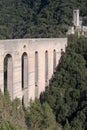
<svg viewBox="0 0 87 130">
<path fill-rule="evenodd" d="M 0 0 L 0 39 L 64 36 L 77 8 L 86 24 L 87 0 Z"/>
</svg>

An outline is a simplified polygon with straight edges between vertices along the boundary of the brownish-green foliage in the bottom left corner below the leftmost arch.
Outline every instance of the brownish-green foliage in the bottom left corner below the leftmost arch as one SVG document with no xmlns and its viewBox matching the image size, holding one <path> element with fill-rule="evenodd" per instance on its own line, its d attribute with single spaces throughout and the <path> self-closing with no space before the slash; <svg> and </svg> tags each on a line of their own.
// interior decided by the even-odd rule
<svg viewBox="0 0 87 130">
<path fill-rule="evenodd" d="M 24 111 L 20 101 L 10 101 L 8 92 L 0 92 L 0 130 L 26 130 Z"/>
</svg>

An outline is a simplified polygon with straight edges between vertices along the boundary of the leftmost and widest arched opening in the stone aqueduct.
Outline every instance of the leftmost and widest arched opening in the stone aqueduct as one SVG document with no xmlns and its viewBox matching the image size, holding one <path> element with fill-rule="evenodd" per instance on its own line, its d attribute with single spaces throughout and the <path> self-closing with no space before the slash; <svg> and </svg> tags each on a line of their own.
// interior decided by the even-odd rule
<svg viewBox="0 0 87 130">
<path fill-rule="evenodd" d="M 4 92 L 8 91 L 12 99 L 13 95 L 13 62 L 12 56 L 7 54 L 4 58 Z"/>
</svg>

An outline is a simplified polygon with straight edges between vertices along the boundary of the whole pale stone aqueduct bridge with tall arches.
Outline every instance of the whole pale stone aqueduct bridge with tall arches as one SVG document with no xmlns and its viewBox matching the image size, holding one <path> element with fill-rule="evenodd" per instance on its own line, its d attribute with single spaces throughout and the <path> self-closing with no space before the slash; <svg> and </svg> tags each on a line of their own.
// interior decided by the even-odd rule
<svg viewBox="0 0 87 130">
<path fill-rule="evenodd" d="M 49 84 L 67 38 L 0 40 L 0 89 L 25 105 Z M 6 82 L 6 83 L 5 83 Z"/>
</svg>

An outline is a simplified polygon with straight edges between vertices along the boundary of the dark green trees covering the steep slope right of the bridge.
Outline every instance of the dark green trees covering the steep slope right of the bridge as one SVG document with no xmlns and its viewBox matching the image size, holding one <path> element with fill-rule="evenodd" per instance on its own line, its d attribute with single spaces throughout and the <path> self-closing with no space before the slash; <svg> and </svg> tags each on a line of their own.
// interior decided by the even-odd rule
<svg viewBox="0 0 87 130">
<path fill-rule="evenodd" d="M 63 130 L 87 130 L 87 38 L 69 38 L 41 101 L 48 102 Z"/>
</svg>

